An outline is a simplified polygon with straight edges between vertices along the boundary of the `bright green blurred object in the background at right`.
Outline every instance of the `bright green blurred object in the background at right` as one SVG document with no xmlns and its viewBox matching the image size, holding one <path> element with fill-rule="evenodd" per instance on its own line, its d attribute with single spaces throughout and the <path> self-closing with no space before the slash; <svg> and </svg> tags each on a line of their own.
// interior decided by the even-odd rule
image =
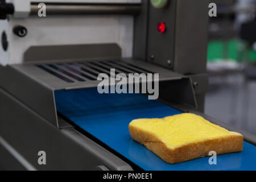
<svg viewBox="0 0 256 182">
<path fill-rule="evenodd" d="M 244 55 L 246 60 L 244 60 Z M 208 43 L 208 62 L 220 60 L 256 62 L 256 51 L 246 48 L 241 40 L 213 40 Z"/>
</svg>

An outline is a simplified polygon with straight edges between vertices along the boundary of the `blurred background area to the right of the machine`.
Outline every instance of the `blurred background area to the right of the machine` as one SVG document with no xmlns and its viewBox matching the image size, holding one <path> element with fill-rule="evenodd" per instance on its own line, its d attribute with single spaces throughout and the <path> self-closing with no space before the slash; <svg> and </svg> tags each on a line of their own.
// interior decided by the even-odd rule
<svg viewBox="0 0 256 182">
<path fill-rule="evenodd" d="M 212 2 L 205 114 L 256 135 L 256 0 Z"/>
</svg>

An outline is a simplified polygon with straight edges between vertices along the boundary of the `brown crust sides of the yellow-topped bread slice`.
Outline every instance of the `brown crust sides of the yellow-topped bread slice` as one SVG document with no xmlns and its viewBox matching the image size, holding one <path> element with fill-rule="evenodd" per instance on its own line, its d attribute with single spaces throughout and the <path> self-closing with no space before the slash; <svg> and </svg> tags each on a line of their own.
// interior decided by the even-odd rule
<svg viewBox="0 0 256 182">
<path fill-rule="evenodd" d="M 134 140 L 146 146 L 148 150 L 154 152 L 165 162 L 171 164 L 208 156 L 210 151 L 216 151 L 217 155 L 220 155 L 240 152 L 243 148 L 243 136 L 235 132 L 230 132 L 233 135 L 226 137 L 201 140 L 170 148 L 152 133 L 132 125 L 129 125 L 129 131 Z"/>
</svg>

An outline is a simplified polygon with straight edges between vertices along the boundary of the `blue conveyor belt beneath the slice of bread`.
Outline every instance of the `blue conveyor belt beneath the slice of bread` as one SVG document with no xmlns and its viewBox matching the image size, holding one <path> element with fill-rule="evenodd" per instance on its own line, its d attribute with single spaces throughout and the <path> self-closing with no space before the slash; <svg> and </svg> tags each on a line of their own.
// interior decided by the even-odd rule
<svg viewBox="0 0 256 182">
<path fill-rule="evenodd" d="M 142 94 L 98 94 L 97 89 L 55 92 L 57 111 L 106 145 L 145 170 L 255 170 L 256 147 L 244 142 L 242 152 L 209 157 L 179 164 L 167 164 L 146 147 L 131 139 L 128 125 L 138 118 L 163 118 L 180 114 Z"/>
</svg>

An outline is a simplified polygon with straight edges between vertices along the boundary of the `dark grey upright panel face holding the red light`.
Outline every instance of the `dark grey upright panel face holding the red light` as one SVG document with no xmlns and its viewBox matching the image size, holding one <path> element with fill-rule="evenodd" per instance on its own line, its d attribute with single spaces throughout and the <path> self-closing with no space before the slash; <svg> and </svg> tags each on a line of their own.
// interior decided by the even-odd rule
<svg viewBox="0 0 256 182">
<path fill-rule="evenodd" d="M 172 68 L 174 60 L 176 1 L 170 1 L 164 9 L 149 5 L 147 60 L 151 63 Z M 158 32 L 158 23 L 166 24 L 166 32 Z"/>
</svg>

